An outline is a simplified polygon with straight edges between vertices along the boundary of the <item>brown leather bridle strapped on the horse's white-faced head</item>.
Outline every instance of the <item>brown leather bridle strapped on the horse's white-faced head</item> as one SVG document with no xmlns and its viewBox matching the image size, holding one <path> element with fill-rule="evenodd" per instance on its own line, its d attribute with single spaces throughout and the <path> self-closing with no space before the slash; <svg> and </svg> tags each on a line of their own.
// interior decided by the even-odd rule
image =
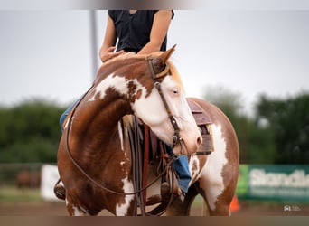
<svg viewBox="0 0 309 226">
<path fill-rule="evenodd" d="M 151 76 L 152 79 L 154 81 L 155 84 L 155 89 L 158 90 L 159 94 L 160 94 L 160 98 L 162 99 L 162 102 L 164 103 L 164 108 L 166 109 L 167 115 L 170 118 L 172 127 L 173 127 L 173 147 L 176 146 L 178 143 L 183 144 L 183 139 L 182 137 L 180 137 L 180 128 L 178 127 L 177 121 L 175 118 L 173 118 L 173 114 L 171 109 L 169 108 L 167 101 L 164 97 L 164 94 L 162 92 L 161 89 L 161 82 L 159 82 L 159 79 L 164 77 L 167 73 L 167 71 L 169 71 L 169 67 L 167 65 L 165 65 L 165 69 L 164 71 L 155 74 L 155 69 L 154 69 L 154 58 L 147 58 L 148 61 L 148 66 L 149 66 L 149 70 L 151 72 Z"/>
</svg>

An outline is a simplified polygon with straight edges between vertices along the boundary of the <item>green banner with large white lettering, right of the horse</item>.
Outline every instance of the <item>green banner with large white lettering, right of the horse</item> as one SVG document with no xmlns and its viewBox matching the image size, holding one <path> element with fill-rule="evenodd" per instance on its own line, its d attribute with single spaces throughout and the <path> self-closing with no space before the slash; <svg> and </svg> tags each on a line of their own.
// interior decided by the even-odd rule
<svg viewBox="0 0 309 226">
<path fill-rule="evenodd" d="M 309 165 L 240 165 L 239 198 L 309 202 Z"/>
</svg>

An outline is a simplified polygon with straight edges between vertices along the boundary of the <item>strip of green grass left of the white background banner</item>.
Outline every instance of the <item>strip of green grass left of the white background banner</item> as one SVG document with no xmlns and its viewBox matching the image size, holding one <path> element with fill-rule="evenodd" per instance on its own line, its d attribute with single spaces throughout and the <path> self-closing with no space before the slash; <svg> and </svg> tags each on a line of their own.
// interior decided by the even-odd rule
<svg viewBox="0 0 309 226">
<path fill-rule="evenodd" d="M 3 202 L 42 202 L 42 197 L 40 189 L 0 187 L 0 203 Z"/>
</svg>

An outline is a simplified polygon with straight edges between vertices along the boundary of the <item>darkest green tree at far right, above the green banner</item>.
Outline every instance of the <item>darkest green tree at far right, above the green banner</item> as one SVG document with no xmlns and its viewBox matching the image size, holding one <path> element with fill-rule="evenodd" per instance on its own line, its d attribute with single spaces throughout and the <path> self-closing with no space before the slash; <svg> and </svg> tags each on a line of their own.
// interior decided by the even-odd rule
<svg viewBox="0 0 309 226">
<path fill-rule="evenodd" d="M 276 141 L 276 164 L 309 163 L 309 94 L 272 99 L 261 96 L 257 120 L 267 120 Z"/>
</svg>

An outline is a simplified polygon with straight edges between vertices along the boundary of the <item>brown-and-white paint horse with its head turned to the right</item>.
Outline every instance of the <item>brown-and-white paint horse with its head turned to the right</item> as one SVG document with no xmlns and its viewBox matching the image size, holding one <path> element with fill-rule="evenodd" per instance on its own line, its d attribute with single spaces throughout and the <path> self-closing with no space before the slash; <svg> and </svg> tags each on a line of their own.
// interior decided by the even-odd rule
<svg viewBox="0 0 309 226">
<path fill-rule="evenodd" d="M 174 47 L 149 55 L 126 53 L 108 61 L 72 109 L 57 155 L 70 215 L 98 215 L 102 210 L 117 216 L 136 214 L 129 136 L 135 126 L 132 115 L 164 144 L 173 146 L 174 155 L 189 156 L 190 189 L 183 200 L 179 196 L 170 202 L 166 214 L 190 214 L 192 201 L 200 193 L 211 215 L 229 215 L 239 174 L 235 131 L 218 108 L 192 99 L 210 113 L 216 148 L 211 155 L 196 155 L 201 130 L 169 61 L 173 51 Z M 149 166 L 148 181 L 155 177 L 154 167 Z M 148 190 L 147 202 L 158 197 L 158 189 Z"/>
</svg>

